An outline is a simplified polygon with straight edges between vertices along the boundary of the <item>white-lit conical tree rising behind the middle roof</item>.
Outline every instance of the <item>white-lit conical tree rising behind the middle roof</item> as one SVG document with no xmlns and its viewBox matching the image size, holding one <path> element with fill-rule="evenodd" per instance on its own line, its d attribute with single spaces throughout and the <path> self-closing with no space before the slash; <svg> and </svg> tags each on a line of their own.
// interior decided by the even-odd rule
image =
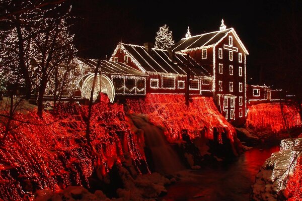
<svg viewBox="0 0 302 201">
<path fill-rule="evenodd" d="M 157 36 L 155 37 L 156 48 L 169 49 L 175 44 L 172 37 L 172 31 L 169 31 L 169 27 L 167 27 L 167 25 L 160 27 L 160 30 L 156 34 L 157 34 Z"/>
</svg>

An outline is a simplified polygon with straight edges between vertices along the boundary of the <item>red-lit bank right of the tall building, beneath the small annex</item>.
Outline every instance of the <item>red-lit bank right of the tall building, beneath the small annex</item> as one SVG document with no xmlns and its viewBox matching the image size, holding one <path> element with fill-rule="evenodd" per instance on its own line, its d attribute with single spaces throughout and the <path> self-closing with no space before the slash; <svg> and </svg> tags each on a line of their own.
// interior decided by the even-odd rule
<svg viewBox="0 0 302 201">
<path fill-rule="evenodd" d="M 283 114 L 288 128 L 302 125 L 300 116 L 294 108 L 284 106 Z M 248 111 L 247 126 L 252 126 L 256 129 L 268 128 L 273 132 L 286 129 L 280 104 L 270 103 L 252 106 Z"/>
</svg>

